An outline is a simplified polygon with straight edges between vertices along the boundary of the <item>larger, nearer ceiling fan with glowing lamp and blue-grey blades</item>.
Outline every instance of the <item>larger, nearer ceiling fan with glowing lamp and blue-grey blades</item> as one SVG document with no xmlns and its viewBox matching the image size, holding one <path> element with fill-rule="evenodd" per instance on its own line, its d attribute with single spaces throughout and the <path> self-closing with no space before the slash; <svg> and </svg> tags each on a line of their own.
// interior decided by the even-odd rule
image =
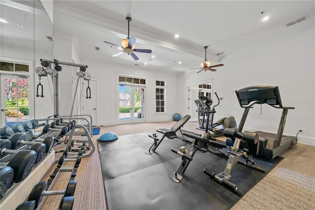
<svg viewBox="0 0 315 210">
<path fill-rule="evenodd" d="M 128 21 L 128 36 L 122 40 L 122 45 L 124 50 L 122 52 L 116 53 L 115 55 L 112 55 L 113 57 L 116 57 L 120 54 L 123 54 L 124 52 L 127 53 L 128 55 L 131 55 L 131 57 L 137 61 L 139 58 L 133 53 L 133 52 L 142 52 L 142 53 L 152 53 L 152 50 L 149 49 L 134 49 L 136 46 L 136 38 L 133 36 L 129 36 L 129 22 L 131 21 L 130 17 L 126 17 L 126 20 Z M 121 47 L 117 44 L 110 43 L 108 41 L 104 41 L 106 44 L 110 44 L 113 46 L 118 46 Z"/>
</svg>

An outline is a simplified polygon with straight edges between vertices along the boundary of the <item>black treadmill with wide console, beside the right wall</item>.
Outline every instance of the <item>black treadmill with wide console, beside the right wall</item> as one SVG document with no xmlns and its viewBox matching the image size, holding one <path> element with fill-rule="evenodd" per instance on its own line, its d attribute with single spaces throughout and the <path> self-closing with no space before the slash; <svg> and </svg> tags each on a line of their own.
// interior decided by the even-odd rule
<svg viewBox="0 0 315 210">
<path fill-rule="evenodd" d="M 278 86 L 251 86 L 235 91 L 242 108 L 245 108 L 238 131 L 242 132 L 250 108 L 255 104 L 267 104 L 275 108 L 281 108 L 282 116 L 277 134 L 256 131 L 259 136 L 259 151 L 256 157 L 273 160 L 282 152 L 297 143 L 297 138 L 283 136 L 285 119 L 289 109 L 294 107 L 283 106 Z"/>
</svg>

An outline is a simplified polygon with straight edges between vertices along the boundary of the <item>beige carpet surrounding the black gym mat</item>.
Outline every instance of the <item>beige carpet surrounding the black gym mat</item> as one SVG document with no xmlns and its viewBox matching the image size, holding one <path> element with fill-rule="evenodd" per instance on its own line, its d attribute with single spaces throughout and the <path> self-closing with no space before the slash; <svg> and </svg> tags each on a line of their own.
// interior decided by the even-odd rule
<svg viewBox="0 0 315 210">
<path fill-rule="evenodd" d="M 113 132 L 118 136 L 152 132 L 158 128 L 170 128 L 175 122 L 137 123 L 100 127 L 100 135 Z M 202 133 L 196 130 L 197 123 L 188 122 L 184 130 Z M 97 147 L 97 138 L 93 141 Z M 55 150 L 62 149 L 59 145 Z M 56 155 L 56 160 L 62 153 Z M 281 161 L 268 175 L 258 182 L 232 210 L 314 210 L 315 209 L 315 147 L 297 144 L 285 151 Z M 56 164 L 57 165 L 57 164 Z M 47 180 L 56 165 L 46 173 L 42 180 Z M 97 148 L 95 153 L 83 158 L 76 179 L 74 210 L 105 210 L 105 193 L 101 175 Z M 246 181 L 246 180 L 245 180 Z M 124 202 L 124 201 L 122 201 Z M 157 207 L 158 209 L 158 207 Z"/>
</svg>

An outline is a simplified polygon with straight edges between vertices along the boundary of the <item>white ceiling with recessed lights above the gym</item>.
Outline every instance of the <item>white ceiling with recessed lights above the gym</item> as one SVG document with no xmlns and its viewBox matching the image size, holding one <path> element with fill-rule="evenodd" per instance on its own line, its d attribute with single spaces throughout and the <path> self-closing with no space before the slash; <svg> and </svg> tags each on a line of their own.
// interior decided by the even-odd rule
<svg viewBox="0 0 315 210">
<path fill-rule="evenodd" d="M 1 0 L 2 1 L 2 0 Z M 315 1 L 274 0 L 54 0 L 55 35 L 74 38 L 81 58 L 140 65 L 159 70 L 188 71 L 200 67 L 207 58 L 213 65 L 224 58 L 252 50 L 306 30 L 314 30 Z M 262 11 L 270 19 L 262 22 Z M 308 15 L 293 26 L 285 24 Z M 120 45 L 127 35 L 136 48 L 152 49 L 152 54 L 120 52 L 103 41 Z M 1 14 L 2 18 L 2 14 Z M 2 24 L 1 24 L 2 26 Z M 2 34 L 2 32 L 1 32 Z M 179 34 L 179 38 L 174 35 Z M 99 47 L 99 51 L 95 51 Z M 221 56 L 216 53 L 225 52 Z M 151 56 L 155 55 L 155 58 Z M 151 61 L 149 61 L 152 59 Z M 179 65 L 178 62 L 182 64 Z M 224 68 L 224 67 L 219 67 Z"/>
</svg>

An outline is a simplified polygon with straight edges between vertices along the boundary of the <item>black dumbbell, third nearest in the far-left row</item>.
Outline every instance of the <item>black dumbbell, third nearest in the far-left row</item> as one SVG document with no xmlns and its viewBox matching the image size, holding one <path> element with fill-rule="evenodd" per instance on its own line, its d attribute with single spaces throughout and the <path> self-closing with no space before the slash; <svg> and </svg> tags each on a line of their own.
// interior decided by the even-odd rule
<svg viewBox="0 0 315 210">
<path fill-rule="evenodd" d="M 10 149 L 20 149 L 24 145 L 30 145 L 29 148 L 30 150 L 34 150 L 37 153 L 37 159 L 35 163 L 38 163 L 43 159 L 43 157 L 46 154 L 46 148 L 49 145 L 46 145 L 44 143 L 40 142 L 34 142 L 34 141 L 27 141 L 26 140 L 26 134 L 24 133 L 17 133 L 13 134 L 11 138 L 9 139 L 11 142 L 11 147 Z"/>
</svg>

